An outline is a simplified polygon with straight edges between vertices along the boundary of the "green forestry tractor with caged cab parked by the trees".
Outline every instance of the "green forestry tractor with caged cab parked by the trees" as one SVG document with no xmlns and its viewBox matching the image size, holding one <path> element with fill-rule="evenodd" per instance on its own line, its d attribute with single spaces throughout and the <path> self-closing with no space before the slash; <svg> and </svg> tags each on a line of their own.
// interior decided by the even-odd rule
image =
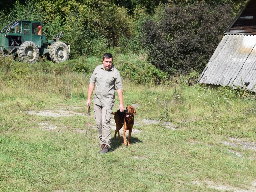
<svg viewBox="0 0 256 192">
<path fill-rule="evenodd" d="M 61 32 L 46 42 L 41 22 L 11 22 L 0 32 L 0 53 L 13 54 L 27 63 L 37 62 L 42 55 L 51 58 L 55 63 L 66 61 L 70 55 L 70 43 L 60 41 L 63 34 Z"/>
</svg>

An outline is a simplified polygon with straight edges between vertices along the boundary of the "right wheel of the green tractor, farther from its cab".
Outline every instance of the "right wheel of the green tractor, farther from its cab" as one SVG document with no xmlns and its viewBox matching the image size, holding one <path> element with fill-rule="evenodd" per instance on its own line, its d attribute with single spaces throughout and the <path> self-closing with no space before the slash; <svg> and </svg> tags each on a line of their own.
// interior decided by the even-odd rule
<svg viewBox="0 0 256 192">
<path fill-rule="evenodd" d="M 54 43 L 50 49 L 50 57 L 54 63 L 67 61 L 69 58 L 68 46 L 61 41 Z"/>
</svg>

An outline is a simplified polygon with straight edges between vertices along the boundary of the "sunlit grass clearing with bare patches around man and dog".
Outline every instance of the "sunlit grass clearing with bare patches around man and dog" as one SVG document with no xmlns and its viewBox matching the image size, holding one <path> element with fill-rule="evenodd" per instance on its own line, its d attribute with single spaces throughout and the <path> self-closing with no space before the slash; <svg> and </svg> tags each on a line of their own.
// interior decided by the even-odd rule
<svg viewBox="0 0 256 192">
<path fill-rule="evenodd" d="M 83 59 L 97 65 L 97 58 Z M 256 179 L 255 150 L 222 141 L 255 142 L 254 99 L 227 87 L 188 86 L 183 77 L 160 86 L 124 79 L 124 105 L 139 106 L 134 129 L 142 132 L 132 133 L 132 145 L 125 147 L 112 130 L 111 152 L 99 155 L 97 131 L 92 130 L 91 139 L 75 131 L 86 130 L 88 117 L 27 113 L 76 106 L 82 108 L 72 110 L 86 114 L 93 68 L 78 73 L 41 64 L 48 67 L 25 65 L 19 73 L 14 67 L 0 73 L 0 191 L 219 191 L 207 181 L 250 190 Z M 118 106 L 116 96 L 113 111 Z M 145 124 L 143 119 L 159 123 Z M 92 113 L 90 121 L 95 127 Z M 167 129 L 162 122 L 178 129 Z M 44 130 L 39 123 L 57 129 Z"/>
</svg>

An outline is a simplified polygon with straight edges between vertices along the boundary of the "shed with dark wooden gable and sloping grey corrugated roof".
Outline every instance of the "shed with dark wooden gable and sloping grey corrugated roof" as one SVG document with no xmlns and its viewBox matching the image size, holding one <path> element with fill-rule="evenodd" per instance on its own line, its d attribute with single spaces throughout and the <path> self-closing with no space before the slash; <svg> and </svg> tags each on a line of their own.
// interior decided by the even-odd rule
<svg viewBox="0 0 256 192">
<path fill-rule="evenodd" d="M 255 17 L 254 17 L 255 15 Z M 256 92 L 256 0 L 249 0 L 224 36 L 198 81 Z"/>
</svg>

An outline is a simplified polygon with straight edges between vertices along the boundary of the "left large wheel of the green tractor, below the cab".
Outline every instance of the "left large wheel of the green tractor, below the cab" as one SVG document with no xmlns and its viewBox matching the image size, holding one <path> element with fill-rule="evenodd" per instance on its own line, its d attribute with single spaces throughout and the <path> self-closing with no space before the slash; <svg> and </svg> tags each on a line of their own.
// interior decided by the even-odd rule
<svg viewBox="0 0 256 192">
<path fill-rule="evenodd" d="M 38 46 L 32 41 L 23 42 L 18 49 L 18 58 L 26 63 L 36 63 L 39 57 Z"/>
</svg>

